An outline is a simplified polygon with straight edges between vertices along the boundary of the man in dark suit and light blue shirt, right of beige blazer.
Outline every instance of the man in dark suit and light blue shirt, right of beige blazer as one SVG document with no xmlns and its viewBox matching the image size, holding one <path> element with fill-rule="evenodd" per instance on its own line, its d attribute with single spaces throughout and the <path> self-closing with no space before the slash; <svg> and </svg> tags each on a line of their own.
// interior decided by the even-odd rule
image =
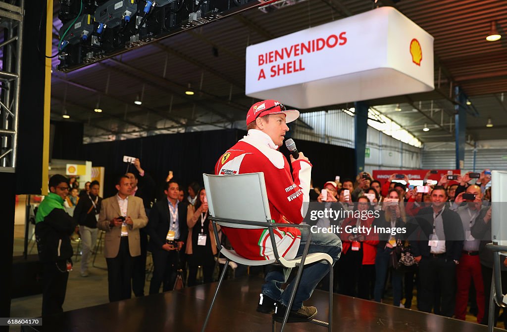
<svg viewBox="0 0 507 332">
<path fill-rule="evenodd" d="M 146 227 L 150 235 L 148 248 L 152 252 L 154 266 L 150 294 L 158 293 L 161 283 L 163 291 L 173 288 L 188 236 L 187 202 L 178 201 L 178 183 L 171 180 L 167 182 L 166 188 L 164 193 L 167 199 L 155 203 Z M 172 232 L 174 245 L 166 243 L 169 232 Z"/>
</svg>

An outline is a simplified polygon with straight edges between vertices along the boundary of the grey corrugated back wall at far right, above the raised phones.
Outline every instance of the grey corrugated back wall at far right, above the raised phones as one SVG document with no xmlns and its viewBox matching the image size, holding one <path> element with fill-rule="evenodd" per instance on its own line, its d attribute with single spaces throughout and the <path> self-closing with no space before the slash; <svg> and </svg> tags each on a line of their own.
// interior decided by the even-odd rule
<svg viewBox="0 0 507 332">
<path fill-rule="evenodd" d="M 446 169 L 455 168 L 455 151 L 422 151 L 422 168 Z M 476 167 L 474 169 L 474 150 L 465 150 L 465 163 L 463 171 L 482 171 L 485 168 L 494 170 L 507 170 L 507 149 L 477 149 Z"/>
</svg>

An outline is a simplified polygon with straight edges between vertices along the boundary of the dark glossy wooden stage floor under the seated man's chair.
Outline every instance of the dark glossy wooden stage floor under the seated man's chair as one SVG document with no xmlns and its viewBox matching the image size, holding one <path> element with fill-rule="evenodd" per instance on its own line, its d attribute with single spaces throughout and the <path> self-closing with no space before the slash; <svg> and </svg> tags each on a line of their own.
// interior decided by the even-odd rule
<svg viewBox="0 0 507 332">
<path fill-rule="evenodd" d="M 211 332 L 271 331 L 271 316 L 256 312 L 263 280 L 242 277 L 225 281 L 207 326 Z M 200 331 L 218 283 L 83 308 L 45 317 L 44 332 Z M 327 321 L 328 293 L 314 291 L 305 305 L 317 308 L 316 319 Z M 412 311 L 371 301 L 334 295 L 333 331 L 486 332 L 475 323 Z M 280 324 L 277 324 L 280 327 Z M 32 330 L 23 328 L 23 330 Z M 327 331 L 310 323 L 292 323 L 286 331 Z M 500 331 L 500 330 L 498 330 Z"/>
</svg>

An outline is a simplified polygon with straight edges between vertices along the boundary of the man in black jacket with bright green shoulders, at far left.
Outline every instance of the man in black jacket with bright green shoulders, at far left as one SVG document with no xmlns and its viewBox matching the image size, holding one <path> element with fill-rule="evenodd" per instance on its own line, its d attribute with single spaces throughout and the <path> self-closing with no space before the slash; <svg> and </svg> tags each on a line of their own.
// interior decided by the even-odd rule
<svg viewBox="0 0 507 332">
<path fill-rule="evenodd" d="M 63 312 L 68 271 L 72 269 L 70 235 L 76 227 L 63 208 L 69 190 L 67 179 L 60 174 L 53 175 L 49 190 L 35 216 L 35 238 L 44 269 L 42 316 Z"/>
</svg>

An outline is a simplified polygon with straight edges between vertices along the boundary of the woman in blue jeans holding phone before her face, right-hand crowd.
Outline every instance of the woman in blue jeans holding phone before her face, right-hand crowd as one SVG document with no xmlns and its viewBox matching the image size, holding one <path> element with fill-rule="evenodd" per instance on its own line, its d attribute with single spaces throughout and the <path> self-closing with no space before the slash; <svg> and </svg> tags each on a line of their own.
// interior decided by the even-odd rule
<svg viewBox="0 0 507 332">
<path fill-rule="evenodd" d="M 390 189 L 387 198 L 382 204 L 382 211 L 377 220 L 377 227 L 381 228 L 403 228 L 407 222 L 403 201 L 400 200 L 400 194 L 396 189 Z M 396 246 L 396 240 L 405 240 L 403 234 L 379 234 L 379 243 L 377 245 L 377 255 L 375 257 L 375 301 L 382 302 L 384 297 L 384 285 L 389 270 L 389 260 L 394 254 L 393 250 Z M 402 276 L 400 272 L 391 269 L 391 284 L 393 305 L 400 307 L 402 300 Z"/>
</svg>

